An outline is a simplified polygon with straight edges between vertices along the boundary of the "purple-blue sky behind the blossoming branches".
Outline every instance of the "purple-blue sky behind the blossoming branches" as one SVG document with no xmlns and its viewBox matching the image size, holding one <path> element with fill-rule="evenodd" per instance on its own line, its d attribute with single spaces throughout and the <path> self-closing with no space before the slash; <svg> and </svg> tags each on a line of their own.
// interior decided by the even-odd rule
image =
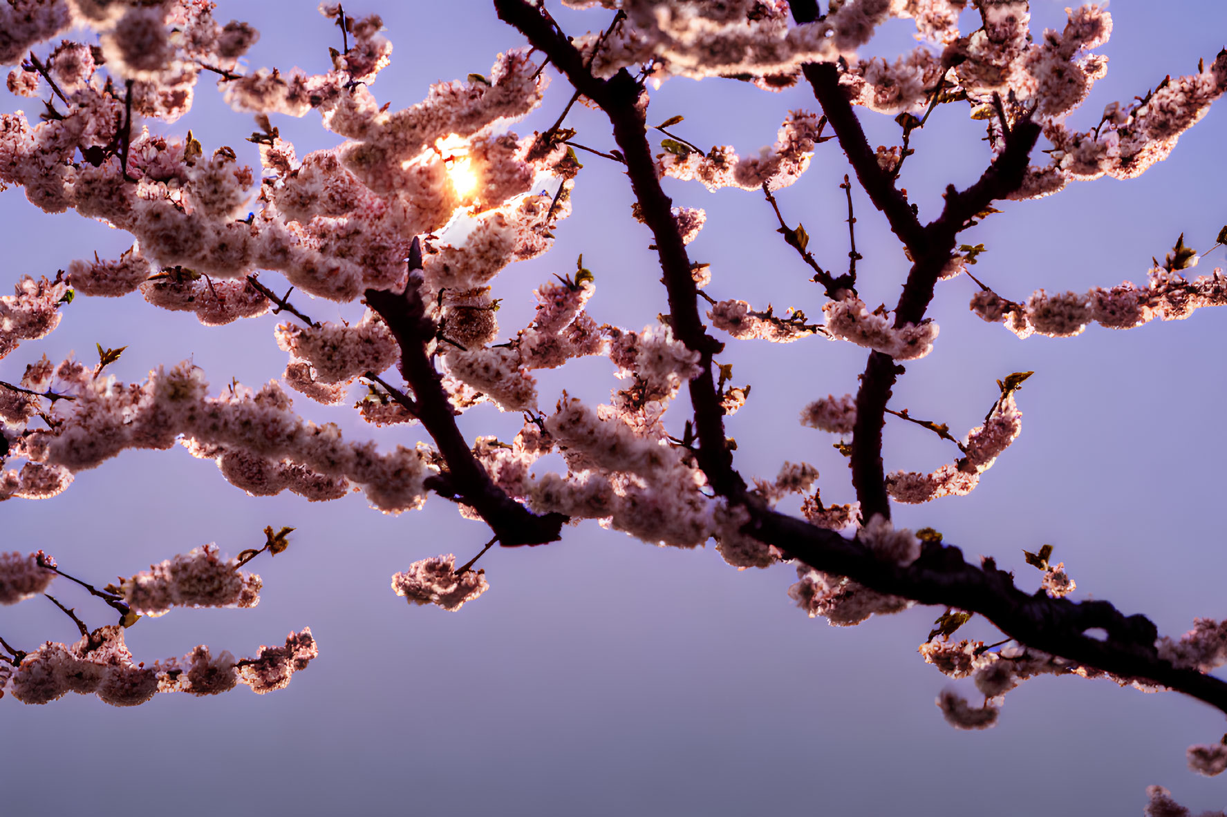
<svg viewBox="0 0 1227 817">
<path fill-rule="evenodd" d="M 253 66 L 321 70 L 335 29 L 314 6 L 222 2 L 217 15 L 261 31 Z M 1063 6 L 1034 2 L 1037 27 L 1059 26 Z M 351 11 L 384 15 L 396 50 L 373 91 L 394 107 L 421 99 L 431 82 L 485 72 L 497 52 L 520 44 L 476 0 L 371 2 Z M 1227 5 L 1216 0 L 1121 0 L 1112 11 L 1109 75 L 1077 115 L 1083 126 L 1107 102 L 1144 93 L 1166 74 L 1188 74 L 1199 56 L 1212 59 L 1227 32 Z M 578 32 L 604 16 L 562 18 Z M 907 47 L 907 26 L 898 23 L 874 48 Z M 545 128 L 566 97 L 556 81 L 545 109 L 515 130 Z M 11 98 L 4 104 L 15 107 Z M 816 105 L 804 90 L 764 94 L 729 81 L 679 80 L 653 94 L 649 119 L 685 114 L 680 130 L 691 141 L 745 152 L 773 141 L 790 108 Z M 975 272 L 1020 299 L 1040 286 L 1141 283 L 1150 258 L 1162 258 L 1182 231 L 1193 247 L 1209 247 L 1227 221 L 1223 117 L 1212 110 L 1141 179 L 1104 179 L 1002 205 L 1002 215 L 966 236 L 989 249 Z M 888 119 L 865 120 L 875 145 L 897 141 Z M 277 124 L 299 156 L 335 144 L 313 117 Z M 593 113 L 574 113 L 573 124 L 585 144 L 610 145 Z M 229 112 L 209 82 L 196 109 L 173 129 L 189 126 L 206 148 L 231 144 L 255 163 L 240 141 L 250 118 Z M 921 217 L 935 215 L 947 182 L 966 185 L 983 169 L 982 134 L 964 110 L 950 107 L 919 135 L 904 185 Z M 557 231 L 556 249 L 498 280 L 504 334 L 528 320 L 530 288 L 573 269 L 580 251 L 596 274 L 590 312 L 598 320 L 638 328 L 666 308 L 650 237 L 627 217 L 625 178 L 611 163 L 583 161 L 575 215 Z M 827 266 L 847 253 L 837 188 L 845 172 L 828 142 L 806 177 L 779 196 L 789 220 L 805 222 Z M 677 204 L 708 211 L 692 256 L 713 264 L 709 292 L 820 312 L 821 293 L 772 232 L 761 196 L 713 195 L 676 182 L 669 190 Z M 865 299 L 893 303 L 907 261 L 864 196 L 856 205 Z M 128 245 L 125 234 L 96 222 L 34 211 L 20 190 L 0 195 L 0 269 L 9 281 Z M 1202 271 L 1216 264 L 1223 264 L 1221 249 Z M 996 556 L 1022 581 L 1037 574 L 1022 563 L 1021 548 L 1052 542 L 1079 581 L 1076 597 L 1146 612 L 1164 632 L 1183 632 L 1194 616 L 1227 615 L 1216 507 L 1227 456 L 1220 417 L 1227 380 L 1217 357 L 1225 316 L 1206 310 L 1129 332 L 1092 328 L 1071 340 L 1022 342 L 967 312 L 973 291 L 966 277 L 939 288 L 931 314 L 941 337 L 930 357 L 908 367 L 892 405 L 966 431 L 994 399 L 995 378 L 1034 369 L 1020 394 L 1022 438 L 973 494 L 899 508 L 897 518 L 942 530 L 969 554 Z M 323 319 L 352 314 L 324 302 L 310 312 Z M 205 330 L 134 296 L 81 298 L 58 331 L 0 362 L 0 378 L 16 380 L 43 352 L 55 358 L 75 348 L 88 357 L 99 341 L 129 346 L 114 367 L 126 379 L 193 357 L 215 384 L 232 375 L 258 384 L 285 364 L 272 341 L 275 320 Z M 753 385 L 730 423 L 744 472 L 773 475 L 784 459 L 804 458 L 822 471 L 825 498 L 850 499 L 832 440 L 800 428 L 795 417 L 809 400 L 854 390 L 864 352 L 815 339 L 736 343 L 724 359 L 739 382 Z M 607 363 L 593 359 L 546 373 L 542 404 L 563 385 L 606 399 L 610 374 Z M 299 407 L 348 434 L 372 433 L 352 412 L 304 399 Z M 488 406 L 466 415 L 463 427 L 514 433 L 513 420 Z M 404 442 L 413 431 L 374 437 Z M 933 469 L 950 455 L 939 443 L 890 424 L 887 467 Z M 216 699 L 161 696 L 133 710 L 92 697 L 48 707 L 4 700 L 2 813 L 1129 815 L 1140 813 L 1152 783 L 1195 808 L 1223 806 L 1221 780 L 1184 768 L 1188 745 L 1223 732 L 1220 715 L 1201 704 L 1040 678 L 1009 697 L 998 727 L 956 732 L 933 705 L 946 678 L 915 653 L 940 611 L 832 628 L 791 607 L 788 567 L 739 573 L 710 548 L 658 550 L 595 524 L 569 530 L 558 545 L 491 552 L 483 564 L 492 589 L 459 613 L 409 608 L 389 590 L 390 574 L 439 552 L 476 552 L 482 526 L 442 501 L 390 518 L 360 497 L 326 504 L 252 499 L 177 449 L 128 453 L 81 474 L 55 499 L 0 505 L 0 546 L 44 547 L 66 569 L 106 581 L 209 541 L 236 553 L 256 543 L 267 524 L 298 531 L 285 556 L 258 566 L 265 578 L 258 608 L 179 611 L 141 622 L 129 643 L 145 660 L 198 643 L 245 654 L 309 624 L 320 659 L 287 689 L 259 698 L 245 689 Z M 58 591 L 94 626 L 107 618 L 101 605 Z M 994 632 L 979 622 L 969 629 Z M 71 623 L 38 600 L 0 610 L 0 634 L 27 649 L 74 638 Z"/>
</svg>

